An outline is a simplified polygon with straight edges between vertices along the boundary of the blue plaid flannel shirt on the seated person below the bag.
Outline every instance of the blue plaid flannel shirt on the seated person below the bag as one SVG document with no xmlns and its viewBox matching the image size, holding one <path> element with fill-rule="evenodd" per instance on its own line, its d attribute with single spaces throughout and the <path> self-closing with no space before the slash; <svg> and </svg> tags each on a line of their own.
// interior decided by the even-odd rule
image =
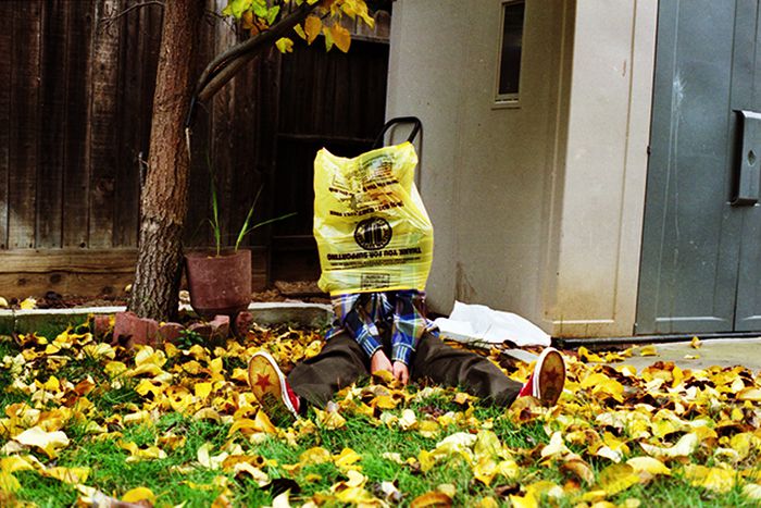
<svg viewBox="0 0 761 508">
<path fill-rule="evenodd" d="M 371 358 L 382 346 L 382 331 L 391 329 L 391 361 L 410 364 L 423 333 L 438 335 L 425 318 L 425 294 L 406 289 L 385 293 L 357 293 L 332 298 L 336 314 L 326 339 L 346 331 Z"/>
</svg>

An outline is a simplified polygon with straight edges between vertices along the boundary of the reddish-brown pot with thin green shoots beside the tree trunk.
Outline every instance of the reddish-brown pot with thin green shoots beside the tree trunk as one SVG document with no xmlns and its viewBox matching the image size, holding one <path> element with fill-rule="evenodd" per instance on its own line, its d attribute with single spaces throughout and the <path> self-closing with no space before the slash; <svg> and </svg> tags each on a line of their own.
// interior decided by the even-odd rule
<svg viewBox="0 0 761 508">
<path fill-rule="evenodd" d="M 221 314 L 229 315 L 230 321 L 234 321 L 238 312 L 246 310 L 251 301 L 251 250 L 240 248 L 246 235 L 258 227 L 296 215 L 296 213 L 287 213 L 251 224 L 253 210 L 261 194 L 260 188 L 238 232 L 235 246 L 223 248 L 216 186 L 212 174 L 212 219 L 209 223 L 214 234 L 215 249 L 213 252 L 199 251 L 185 255 L 190 306 L 205 319 L 213 319 Z"/>
</svg>

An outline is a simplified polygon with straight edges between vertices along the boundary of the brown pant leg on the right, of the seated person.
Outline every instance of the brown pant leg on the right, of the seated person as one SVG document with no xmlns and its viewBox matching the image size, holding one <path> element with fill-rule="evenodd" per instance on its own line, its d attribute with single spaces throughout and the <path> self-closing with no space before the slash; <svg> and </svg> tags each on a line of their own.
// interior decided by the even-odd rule
<svg viewBox="0 0 761 508">
<path fill-rule="evenodd" d="M 522 387 L 486 358 L 447 346 L 429 334 L 417 344 L 410 375 L 413 380 L 428 379 L 444 386 L 460 386 L 486 404 L 502 406 L 512 404 Z"/>
</svg>

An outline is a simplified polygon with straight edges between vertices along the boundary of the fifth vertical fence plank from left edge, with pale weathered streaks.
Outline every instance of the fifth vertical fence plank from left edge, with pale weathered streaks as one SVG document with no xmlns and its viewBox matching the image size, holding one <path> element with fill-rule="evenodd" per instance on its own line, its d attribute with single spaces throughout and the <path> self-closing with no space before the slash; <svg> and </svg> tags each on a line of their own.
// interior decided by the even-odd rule
<svg viewBox="0 0 761 508">
<path fill-rule="evenodd" d="M 98 0 L 90 76 L 90 202 L 88 246 L 111 247 L 114 232 L 114 184 L 117 133 L 118 44 L 123 23 L 103 20 L 122 11 L 122 0 Z"/>
</svg>

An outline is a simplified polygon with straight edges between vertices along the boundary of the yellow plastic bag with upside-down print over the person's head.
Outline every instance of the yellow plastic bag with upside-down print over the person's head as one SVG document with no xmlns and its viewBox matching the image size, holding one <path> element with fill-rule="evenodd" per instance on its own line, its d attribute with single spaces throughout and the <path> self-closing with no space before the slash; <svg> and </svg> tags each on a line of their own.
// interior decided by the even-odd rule
<svg viewBox="0 0 761 508">
<path fill-rule="evenodd" d="M 424 290 L 434 227 L 414 184 L 410 143 L 354 159 L 324 148 L 314 160 L 320 288 L 330 295 Z"/>
</svg>

